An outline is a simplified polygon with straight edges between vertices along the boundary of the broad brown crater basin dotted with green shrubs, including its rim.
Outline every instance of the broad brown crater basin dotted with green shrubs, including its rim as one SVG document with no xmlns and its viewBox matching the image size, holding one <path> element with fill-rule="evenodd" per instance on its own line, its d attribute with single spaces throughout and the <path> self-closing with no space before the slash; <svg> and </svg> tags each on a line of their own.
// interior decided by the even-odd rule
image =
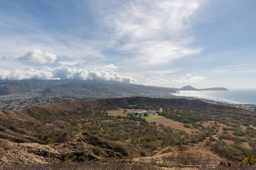
<svg viewBox="0 0 256 170">
<path fill-rule="evenodd" d="M 159 113 L 165 118 L 142 119 L 132 116 L 134 111 Z M 162 149 L 181 145 L 238 162 L 246 152 L 254 152 L 255 123 L 255 112 L 199 100 L 129 97 L 51 103 L 0 111 L 0 163 L 47 162 L 48 147 L 53 162 L 80 162 L 153 159 Z M 163 160 L 176 160 L 178 153 L 166 154 Z M 28 155 L 33 157 L 31 161 Z M 183 164 L 182 159 L 177 160 Z M 192 162 L 191 158 L 189 164 Z"/>
</svg>

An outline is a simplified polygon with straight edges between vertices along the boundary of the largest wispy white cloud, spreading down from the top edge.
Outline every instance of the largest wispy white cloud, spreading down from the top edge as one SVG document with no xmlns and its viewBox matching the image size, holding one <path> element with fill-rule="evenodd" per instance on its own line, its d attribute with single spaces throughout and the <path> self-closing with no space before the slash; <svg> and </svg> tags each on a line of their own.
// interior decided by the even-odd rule
<svg viewBox="0 0 256 170">
<path fill-rule="evenodd" d="M 114 30 L 110 44 L 146 64 L 198 55 L 201 49 L 186 47 L 193 41 L 186 30 L 191 28 L 191 17 L 199 7 L 198 0 L 124 3 L 107 16 L 106 21 Z"/>
</svg>

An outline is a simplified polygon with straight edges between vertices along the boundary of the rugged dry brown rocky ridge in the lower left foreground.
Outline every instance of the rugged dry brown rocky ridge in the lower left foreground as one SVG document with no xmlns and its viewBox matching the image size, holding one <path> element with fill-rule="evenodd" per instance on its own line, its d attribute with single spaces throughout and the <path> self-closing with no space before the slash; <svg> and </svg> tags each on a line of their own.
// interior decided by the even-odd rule
<svg viewBox="0 0 256 170">
<path fill-rule="evenodd" d="M 81 132 L 70 142 L 40 145 L 38 143 L 14 143 L 0 139 L 0 164 L 47 163 L 50 149 L 51 162 L 84 162 L 108 158 L 122 158 L 126 151 L 124 143 L 107 142 L 98 137 Z M 132 147 L 127 152 L 138 154 Z M 130 154 L 132 155 L 132 154 Z"/>
</svg>

